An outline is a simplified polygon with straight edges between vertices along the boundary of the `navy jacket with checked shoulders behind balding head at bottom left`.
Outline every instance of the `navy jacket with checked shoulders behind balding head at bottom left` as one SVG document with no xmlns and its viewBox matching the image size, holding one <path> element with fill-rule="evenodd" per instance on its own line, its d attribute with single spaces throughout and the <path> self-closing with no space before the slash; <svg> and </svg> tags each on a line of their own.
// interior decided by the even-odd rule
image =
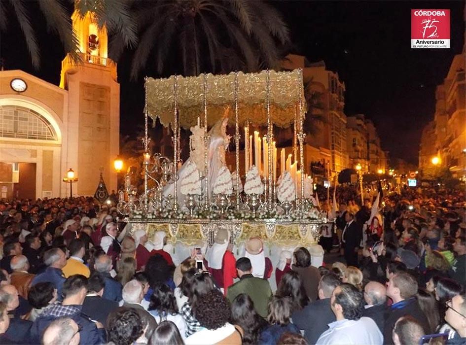
<svg viewBox="0 0 466 345">
<path fill-rule="evenodd" d="M 40 338 L 47 326 L 61 316 L 72 318 L 82 328 L 79 332 L 80 344 L 99 345 L 105 344 L 105 329 L 97 328 L 96 324 L 83 314 L 82 306 L 63 306 L 56 304 L 43 311 L 34 321 L 31 327 L 31 344 L 40 344 Z"/>
</svg>

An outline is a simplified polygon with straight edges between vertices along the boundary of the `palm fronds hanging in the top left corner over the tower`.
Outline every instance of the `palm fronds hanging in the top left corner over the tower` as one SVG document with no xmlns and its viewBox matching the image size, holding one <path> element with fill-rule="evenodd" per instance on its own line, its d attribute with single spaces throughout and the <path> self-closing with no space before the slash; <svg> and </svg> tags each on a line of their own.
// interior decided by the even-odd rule
<svg viewBox="0 0 466 345">
<path fill-rule="evenodd" d="M 31 56 L 34 68 L 40 66 L 39 43 L 31 24 L 31 17 L 35 15 L 35 7 L 45 17 L 48 29 L 56 33 L 64 46 L 76 62 L 80 61 L 78 52 L 78 40 L 72 31 L 71 17 L 67 7 L 73 1 L 68 0 L 1 0 L 0 1 L 0 30 L 8 30 L 8 20 L 15 17 L 23 31 L 26 46 Z M 107 31 L 118 33 L 124 46 L 137 43 L 137 26 L 130 15 L 130 0 L 75 0 L 74 8 L 84 16 L 87 11 L 96 14 L 97 25 L 102 28 L 107 26 Z"/>
</svg>

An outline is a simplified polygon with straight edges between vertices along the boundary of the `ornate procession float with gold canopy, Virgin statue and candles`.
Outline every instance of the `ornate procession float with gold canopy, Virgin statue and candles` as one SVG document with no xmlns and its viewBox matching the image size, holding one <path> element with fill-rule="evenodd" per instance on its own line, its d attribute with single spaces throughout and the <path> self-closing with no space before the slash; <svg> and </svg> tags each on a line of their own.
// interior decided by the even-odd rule
<svg viewBox="0 0 466 345">
<path fill-rule="evenodd" d="M 132 231 L 145 229 L 149 239 L 165 231 L 179 261 L 192 246 L 212 244 L 220 228 L 229 230 L 238 253 L 253 236 L 262 239 L 270 256 L 316 243 L 327 219 L 315 207 L 313 181 L 304 173 L 304 108 L 301 69 L 146 78 L 143 192 L 137 195 L 127 174 L 119 212 Z M 150 152 L 149 117 L 171 128 L 173 157 Z M 226 134 L 227 126 L 234 126 L 233 138 Z M 266 128 L 265 135 L 250 133 L 251 126 Z M 282 150 L 278 157 L 274 126 L 293 126 L 292 155 L 285 157 Z M 180 159 L 181 128 L 191 131 L 185 162 Z M 234 171 L 225 163 L 231 139 Z"/>
</svg>

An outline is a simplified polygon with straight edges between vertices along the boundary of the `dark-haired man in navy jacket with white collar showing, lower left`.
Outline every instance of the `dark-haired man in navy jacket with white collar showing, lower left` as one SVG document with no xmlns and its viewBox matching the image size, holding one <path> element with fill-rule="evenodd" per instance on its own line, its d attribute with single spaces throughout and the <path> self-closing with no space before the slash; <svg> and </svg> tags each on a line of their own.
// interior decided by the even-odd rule
<svg viewBox="0 0 466 345">
<path fill-rule="evenodd" d="M 99 273 L 90 276 L 87 283 L 88 291 L 82 304 L 82 312 L 105 325 L 108 314 L 118 308 L 118 302 L 102 298 L 105 279 Z"/>
</svg>

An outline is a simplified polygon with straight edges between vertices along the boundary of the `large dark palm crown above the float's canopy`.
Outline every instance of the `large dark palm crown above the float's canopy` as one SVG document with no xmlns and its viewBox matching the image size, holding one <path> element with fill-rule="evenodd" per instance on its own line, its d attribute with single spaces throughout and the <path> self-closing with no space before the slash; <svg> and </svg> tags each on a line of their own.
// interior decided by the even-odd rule
<svg viewBox="0 0 466 345">
<path fill-rule="evenodd" d="M 255 71 L 261 61 L 273 68 L 282 58 L 279 44 L 289 41 L 282 16 L 262 0 L 144 1 L 135 7 L 141 39 L 132 78 L 146 66 L 151 53 L 158 73 L 168 57 L 179 57 L 185 75 L 198 75 L 201 70 Z M 123 49 L 113 48 L 112 58 L 118 60 Z"/>
</svg>

